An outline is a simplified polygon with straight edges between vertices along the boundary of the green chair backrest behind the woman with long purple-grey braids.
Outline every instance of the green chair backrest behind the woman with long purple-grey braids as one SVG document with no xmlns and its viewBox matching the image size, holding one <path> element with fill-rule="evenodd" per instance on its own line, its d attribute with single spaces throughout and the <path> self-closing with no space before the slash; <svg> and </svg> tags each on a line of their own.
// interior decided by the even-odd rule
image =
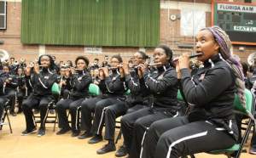
<svg viewBox="0 0 256 158">
<path fill-rule="evenodd" d="M 248 115 L 248 113 L 253 114 L 253 93 L 251 93 L 251 91 L 249 91 L 248 89 L 245 89 L 245 97 L 246 107 L 243 107 L 238 95 L 236 94 L 234 100 L 235 110 L 243 113 L 244 115 Z"/>
</svg>

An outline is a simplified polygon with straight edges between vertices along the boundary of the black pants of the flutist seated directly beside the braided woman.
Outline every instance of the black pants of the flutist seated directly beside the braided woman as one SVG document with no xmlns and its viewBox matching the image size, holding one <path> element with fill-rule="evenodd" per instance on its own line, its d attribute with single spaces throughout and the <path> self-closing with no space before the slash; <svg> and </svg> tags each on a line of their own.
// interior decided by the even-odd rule
<svg viewBox="0 0 256 158">
<path fill-rule="evenodd" d="M 166 110 L 152 110 L 144 108 L 127 114 L 121 119 L 121 130 L 124 136 L 124 144 L 131 158 L 137 158 L 143 144 L 143 137 L 147 128 L 154 122 L 172 117 L 173 113 Z M 177 115 L 176 115 L 177 116 Z"/>
</svg>

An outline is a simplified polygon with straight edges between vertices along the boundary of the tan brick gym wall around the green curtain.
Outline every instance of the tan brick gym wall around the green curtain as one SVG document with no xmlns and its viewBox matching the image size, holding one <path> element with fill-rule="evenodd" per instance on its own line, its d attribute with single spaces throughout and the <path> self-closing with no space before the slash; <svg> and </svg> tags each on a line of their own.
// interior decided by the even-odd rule
<svg viewBox="0 0 256 158">
<path fill-rule="evenodd" d="M 228 1 L 228 0 L 226 0 Z M 168 0 L 161 0 L 161 3 L 168 2 Z M 178 0 L 177 2 L 193 3 L 194 0 Z M 234 2 L 244 2 L 243 0 L 234 0 Z M 196 0 L 196 3 L 211 4 L 211 0 Z M 4 43 L 0 44 L 0 49 L 5 49 L 9 52 L 10 56 L 19 59 L 25 57 L 26 60 L 33 60 L 38 56 L 38 45 L 23 45 L 20 43 L 20 23 L 21 23 L 21 3 L 8 2 L 7 8 L 7 30 L 0 31 L 0 40 Z M 180 14 L 180 9 L 169 9 L 169 14 Z M 211 25 L 211 11 L 206 14 L 206 25 Z M 168 9 L 160 9 L 160 42 L 169 45 L 175 54 L 182 54 L 191 52 L 192 48 L 178 48 L 179 43 L 192 43 L 193 37 L 180 36 L 180 20 L 168 20 Z M 244 47 L 245 50 L 241 52 L 239 47 Z M 102 48 L 103 54 L 85 54 L 83 46 L 65 47 L 65 46 L 45 46 L 47 54 L 53 54 L 57 60 L 74 60 L 78 55 L 86 55 L 89 59 L 99 58 L 103 59 L 104 54 L 122 54 L 124 59 L 127 60 L 134 54 L 138 48 Z M 233 48 L 234 54 L 238 54 L 242 60 L 247 59 L 247 55 L 256 52 L 255 46 L 239 46 Z M 147 53 L 152 54 L 153 48 L 147 48 Z"/>
</svg>

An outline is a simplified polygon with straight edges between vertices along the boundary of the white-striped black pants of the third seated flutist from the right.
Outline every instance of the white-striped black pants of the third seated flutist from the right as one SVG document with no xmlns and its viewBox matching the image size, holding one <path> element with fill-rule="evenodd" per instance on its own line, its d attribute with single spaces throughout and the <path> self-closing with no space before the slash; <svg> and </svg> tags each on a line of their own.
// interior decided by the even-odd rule
<svg viewBox="0 0 256 158">
<path fill-rule="evenodd" d="M 106 130 L 108 131 L 108 133 L 105 133 L 105 138 L 112 139 L 113 138 L 112 133 L 114 131 L 114 123 L 115 123 L 115 121 L 111 122 L 113 121 L 113 115 L 120 116 L 120 113 L 123 113 L 123 111 L 127 110 L 124 107 L 125 107 L 125 104 L 119 101 L 119 99 L 117 98 L 108 98 L 108 99 L 102 99 L 98 101 L 96 103 L 94 121 L 91 128 L 92 133 L 97 135 L 102 135 L 103 125 L 104 123 L 106 123 Z M 113 110 L 116 110 L 115 111 L 116 114 L 112 113 Z M 105 114 L 107 114 L 108 116 L 106 116 Z"/>
</svg>

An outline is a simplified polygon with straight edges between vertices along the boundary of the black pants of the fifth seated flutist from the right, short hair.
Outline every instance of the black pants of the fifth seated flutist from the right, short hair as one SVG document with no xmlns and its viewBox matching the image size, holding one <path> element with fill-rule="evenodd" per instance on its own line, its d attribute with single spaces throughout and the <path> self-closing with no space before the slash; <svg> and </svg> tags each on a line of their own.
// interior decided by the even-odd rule
<svg viewBox="0 0 256 158">
<path fill-rule="evenodd" d="M 71 128 L 72 131 L 79 131 L 79 109 L 84 99 L 61 99 L 56 104 L 56 111 L 59 117 L 59 127 L 69 128 L 67 110 L 71 116 Z"/>
</svg>

